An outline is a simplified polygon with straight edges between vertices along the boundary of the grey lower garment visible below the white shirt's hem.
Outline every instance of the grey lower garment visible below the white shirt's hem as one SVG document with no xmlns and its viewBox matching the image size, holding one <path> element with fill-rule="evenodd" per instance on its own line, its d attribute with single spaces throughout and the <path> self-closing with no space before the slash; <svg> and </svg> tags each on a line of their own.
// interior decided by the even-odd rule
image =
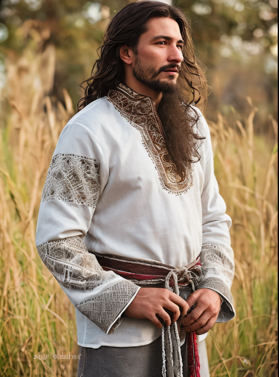
<svg viewBox="0 0 279 377">
<path fill-rule="evenodd" d="M 80 347 L 78 377 L 162 377 L 161 337 L 146 346 Z M 205 340 L 198 343 L 201 377 L 209 377 Z M 181 346 L 183 377 L 189 377 L 186 343 Z"/>
</svg>

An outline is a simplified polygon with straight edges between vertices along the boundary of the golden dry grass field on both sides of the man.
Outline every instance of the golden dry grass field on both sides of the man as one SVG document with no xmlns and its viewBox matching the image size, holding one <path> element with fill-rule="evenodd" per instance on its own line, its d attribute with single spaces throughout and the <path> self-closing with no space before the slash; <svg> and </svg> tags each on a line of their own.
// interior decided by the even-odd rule
<svg viewBox="0 0 279 377">
<path fill-rule="evenodd" d="M 78 355 L 74 307 L 44 267 L 35 247 L 41 190 L 58 136 L 74 114 L 46 93 L 55 52 L 25 49 L 7 61 L 0 133 L 0 375 L 75 376 Z M 207 336 L 211 376 L 277 376 L 277 123 L 273 140 L 254 135 L 257 112 L 233 124 L 208 122 L 215 172 L 231 216 L 236 317 Z M 34 355 L 49 354 L 47 360 Z"/>
</svg>

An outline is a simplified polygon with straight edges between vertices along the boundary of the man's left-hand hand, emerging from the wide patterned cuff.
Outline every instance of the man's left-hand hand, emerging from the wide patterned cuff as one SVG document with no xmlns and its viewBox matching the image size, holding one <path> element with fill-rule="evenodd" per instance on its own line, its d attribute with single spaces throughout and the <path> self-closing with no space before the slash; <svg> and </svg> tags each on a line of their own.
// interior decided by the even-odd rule
<svg viewBox="0 0 279 377">
<path fill-rule="evenodd" d="M 173 312 L 172 320 L 164 308 Z M 141 288 L 125 310 L 125 314 L 133 318 L 149 319 L 161 329 L 162 323 L 156 314 L 170 326 L 172 321 L 178 320 L 180 314 L 185 316 L 188 309 L 189 305 L 182 297 L 165 288 Z"/>
</svg>

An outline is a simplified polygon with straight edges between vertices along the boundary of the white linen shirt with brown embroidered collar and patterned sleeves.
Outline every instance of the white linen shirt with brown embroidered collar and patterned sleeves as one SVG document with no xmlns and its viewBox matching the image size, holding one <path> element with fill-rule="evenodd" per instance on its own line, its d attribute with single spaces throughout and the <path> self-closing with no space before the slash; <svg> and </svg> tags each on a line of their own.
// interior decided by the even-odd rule
<svg viewBox="0 0 279 377">
<path fill-rule="evenodd" d="M 104 271 L 92 252 L 175 267 L 200 255 L 198 288 L 223 299 L 217 321 L 235 315 L 231 219 L 218 192 L 210 132 L 195 109 L 197 132 L 205 139 L 200 161 L 183 182 L 164 158 L 155 104 L 123 84 L 84 107 L 61 132 L 42 193 L 36 245 L 75 305 L 80 346 L 146 345 L 161 335 L 149 320 L 124 316 L 140 287 Z"/>
</svg>

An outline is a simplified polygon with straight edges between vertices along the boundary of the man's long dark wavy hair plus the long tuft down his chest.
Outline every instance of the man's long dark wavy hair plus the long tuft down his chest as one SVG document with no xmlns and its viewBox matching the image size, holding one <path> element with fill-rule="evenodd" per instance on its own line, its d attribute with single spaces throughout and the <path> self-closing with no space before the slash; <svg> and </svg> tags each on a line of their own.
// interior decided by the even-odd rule
<svg viewBox="0 0 279 377">
<path fill-rule="evenodd" d="M 81 84 L 84 97 L 78 101 L 78 111 L 92 101 L 106 96 L 118 81 L 124 82 L 120 47 L 127 45 L 136 52 L 139 37 L 147 31 L 147 21 L 155 17 L 175 20 L 184 40 L 184 60 L 179 69 L 178 90 L 173 94 L 163 94 L 157 111 L 169 158 L 182 180 L 187 169 L 200 158 L 197 141 L 202 139 L 193 131 L 198 114 L 193 110 L 192 115 L 189 115 L 187 108 L 195 102 L 199 103 L 198 106 L 203 110 L 207 100 L 207 82 L 204 70 L 195 57 L 190 22 L 181 8 L 146 0 L 131 3 L 112 17 L 104 32 L 102 46 L 98 49 L 99 59 L 93 66 L 91 77 Z M 185 105 L 181 106 L 181 103 Z M 196 116 L 193 116 L 193 112 Z"/>
</svg>

